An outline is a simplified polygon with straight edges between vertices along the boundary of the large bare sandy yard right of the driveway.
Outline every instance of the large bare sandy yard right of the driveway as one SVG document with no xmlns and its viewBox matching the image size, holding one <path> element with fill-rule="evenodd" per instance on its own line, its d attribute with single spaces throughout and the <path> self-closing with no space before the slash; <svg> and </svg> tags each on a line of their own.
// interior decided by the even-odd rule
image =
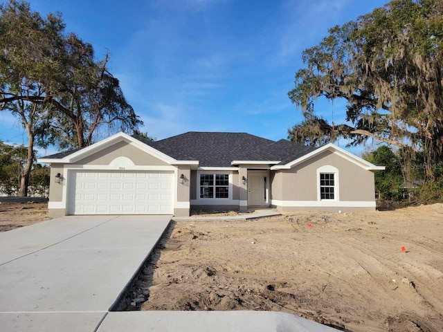
<svg viewBox="0 0 443 332">
<path fill-rule="evenodd" d="M 120 310 L 271 310 L 343 331 L 442 331 L 443 204 L 180 221 Z"/>
</svg>

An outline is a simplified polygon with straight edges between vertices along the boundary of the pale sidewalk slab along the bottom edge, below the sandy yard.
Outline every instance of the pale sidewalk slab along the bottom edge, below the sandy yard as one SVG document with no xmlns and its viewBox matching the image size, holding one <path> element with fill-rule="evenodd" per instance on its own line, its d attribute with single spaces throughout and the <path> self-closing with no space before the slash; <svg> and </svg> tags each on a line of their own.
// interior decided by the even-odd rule
<svg viewBox="0 0 443 332">
<path fill-rule="evenodd" d="M 336 332 L 331 327 L 275 311 L 129 311 L 109 313 L 98 332 Z"/>
</svg>

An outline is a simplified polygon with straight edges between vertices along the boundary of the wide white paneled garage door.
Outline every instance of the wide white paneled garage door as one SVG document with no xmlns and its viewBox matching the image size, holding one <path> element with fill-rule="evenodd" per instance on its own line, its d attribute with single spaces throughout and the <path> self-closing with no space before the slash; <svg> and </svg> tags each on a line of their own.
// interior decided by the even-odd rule
<svg viewBox="0 0 443 332">
<path fill-rule="evenodd" d="M 68 214 L 172 214 L 173 175 L 72 171 Z"/>
</svg>

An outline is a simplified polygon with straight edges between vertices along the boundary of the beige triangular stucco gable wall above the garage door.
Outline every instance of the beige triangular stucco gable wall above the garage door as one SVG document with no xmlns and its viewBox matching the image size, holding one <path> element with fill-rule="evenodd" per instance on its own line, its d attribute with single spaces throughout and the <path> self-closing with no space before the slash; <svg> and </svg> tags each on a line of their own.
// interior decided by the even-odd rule
<svg viewBox="0 0 443 332">
<path fill-rule="evenodd" d="M 165 166 L 168 163 L 165 163 L 163 160 L 156 158 L 146 152 L 134 147 L 134 145 L 130 145 L 127 142 L 121 141 L 110 147 L 102 149 L 91 156 L 87 156 L 81 160 L 75 162 L 78 165 L 109 165 L 112 160 L 117 157 L 127 157 L 132 160 L 135 165 L 144 166 L 144 165 L 152 165 L 152 166 Z"/>
</svg>

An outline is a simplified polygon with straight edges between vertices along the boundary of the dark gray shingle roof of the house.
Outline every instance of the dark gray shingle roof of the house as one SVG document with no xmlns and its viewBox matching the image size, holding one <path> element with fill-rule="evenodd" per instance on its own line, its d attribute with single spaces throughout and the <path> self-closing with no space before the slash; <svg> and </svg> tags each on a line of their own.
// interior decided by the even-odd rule
<svg viewBox="0 0 443 332">
<path fill-rule="evenodd" d="M 189 131 L 154 142 L 142 136 L 133 137 L 176 160 L 199 160 L 202 167 L 230 167 L 233 160 L 279 160 L 280 164 L 286 164 L 316 149 L 289 140 L 275 142 L 249 133 Z M 44 158 L 61 159 L 78 150 Z"/>
</svg>

